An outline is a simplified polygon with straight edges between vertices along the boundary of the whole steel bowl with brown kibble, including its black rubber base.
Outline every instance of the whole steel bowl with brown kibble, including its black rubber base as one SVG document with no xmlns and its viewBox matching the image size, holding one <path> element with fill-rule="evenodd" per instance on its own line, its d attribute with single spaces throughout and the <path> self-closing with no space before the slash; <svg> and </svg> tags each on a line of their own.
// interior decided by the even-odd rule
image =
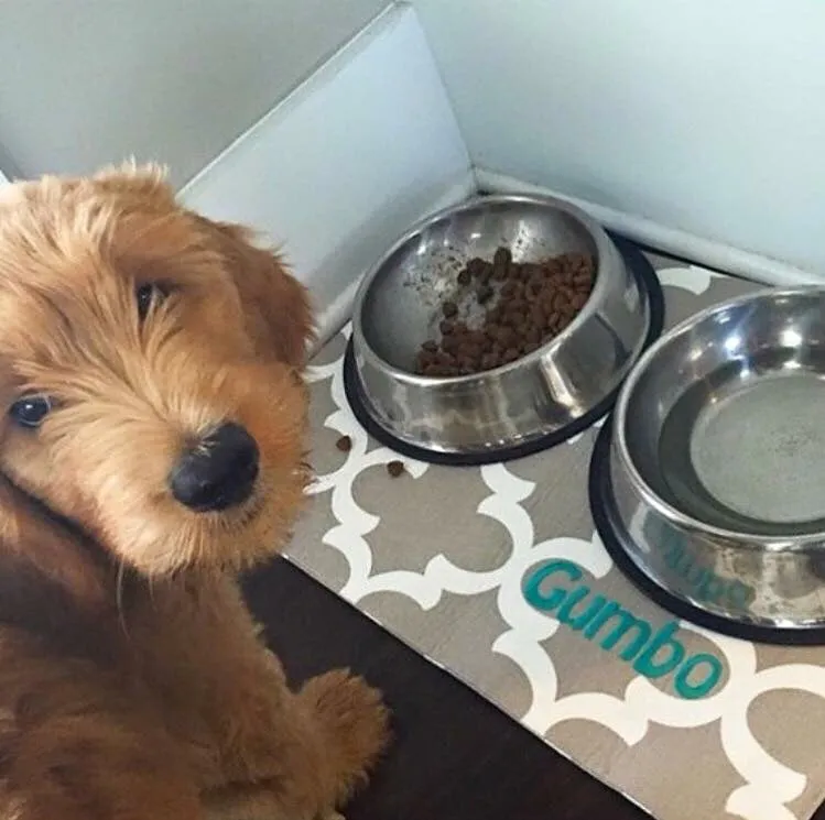
<svg viewBox="0 0 825 820">
<path fill-rule="evenodd" d="M 405 455 L 523 456 L 609 409 L 661 331 L 661 300 L 644 256 L 578 208 L 474 198 L 413 228 L 365 277 L 347 396 Z"/>
</svg>

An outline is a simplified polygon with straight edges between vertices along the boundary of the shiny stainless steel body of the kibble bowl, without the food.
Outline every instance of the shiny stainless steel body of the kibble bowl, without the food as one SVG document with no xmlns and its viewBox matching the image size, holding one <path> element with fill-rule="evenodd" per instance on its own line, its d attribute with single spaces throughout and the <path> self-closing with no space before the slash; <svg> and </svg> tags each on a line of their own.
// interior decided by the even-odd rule
<svg viewBox="0 0 825 820">
<path fill-rule="evenodd" d="M 416 375 L 416 352 L 437 336 L 439 305 L 457 287 L 457 272 L 474 256 L 491 259 L 502 244 L 517 262 L 591 254 L 589 300 L 560 336 L 510 364 L 477 375 Z M 352 318 L 355 389 L 394 441 L 489 456 L 585 417 L 618 387 L 650 328 L 638 277 L 587 215 L 550 198 L 479 197 L 413 228 L 365 277 Z"/>
</svg>

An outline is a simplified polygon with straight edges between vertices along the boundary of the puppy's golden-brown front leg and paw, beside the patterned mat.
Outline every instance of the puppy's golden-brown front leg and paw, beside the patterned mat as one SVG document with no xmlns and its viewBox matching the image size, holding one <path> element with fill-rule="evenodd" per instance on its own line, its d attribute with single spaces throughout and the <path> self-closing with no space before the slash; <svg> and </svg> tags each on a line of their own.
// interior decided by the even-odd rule
<svg viewBox="0 0 825 820">
<path fill-rule="evenodd" d="M 215 766 L 198 767 L 227 817 L 231 806 L 245 820 L 323 817 L 387 742 L 387 710 L 359 678 L 330 673 L 287 688 L 234 579 L 158 582 L 130 624 L 171 731 L 193 748 L 214 746 Z"/>
</svg>

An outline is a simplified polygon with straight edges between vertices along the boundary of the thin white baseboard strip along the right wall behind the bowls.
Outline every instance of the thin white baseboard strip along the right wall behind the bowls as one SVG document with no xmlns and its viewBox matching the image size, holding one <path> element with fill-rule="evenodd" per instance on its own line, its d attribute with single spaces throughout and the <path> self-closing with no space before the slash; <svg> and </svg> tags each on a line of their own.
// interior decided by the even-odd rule
<svg viewBox="0 0 825 820">
<path fill-rule="evenodd" d="M 749 251 L 730 248 L 720 242 L 714 242 L 701 237 L 694 237 L 684 231 L 667 228 L 650 219 L 625 214 L 612 208 L 575 199 L 558 194 L 550 188 L 531 185 L 515 177 L 506 176 L 484 168 L 476 168 L 478 187 L 496 194 L 531 193 L 543 196 L 555 196 L 560 199 L 577 205 L 606 228 L 632 239 L 649 248 L 670 253 L 681 259 L 690 260 L 697 265 L 704 265 L 734 276 L 741 276 L 766 285 L 822 285 L 822 276 L 810 271 L 769 259 Z"/>
</svg>

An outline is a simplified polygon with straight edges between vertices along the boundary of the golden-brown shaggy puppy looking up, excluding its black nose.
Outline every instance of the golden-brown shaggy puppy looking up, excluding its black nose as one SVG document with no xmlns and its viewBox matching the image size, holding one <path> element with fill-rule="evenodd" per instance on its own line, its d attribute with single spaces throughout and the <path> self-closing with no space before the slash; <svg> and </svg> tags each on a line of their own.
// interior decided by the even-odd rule
<svg viewBox="0 0 825 820">
<path fill-rule="evenodd" d="M 379 757 L 379 693 L 291 691 L 236 580 L 301 509 L 312 334 L 152 166 L 0 190 L 2 820 L 313 820 Z M 257 478 L 195 510 L 170 475 L 227 422 Z"/>
</svg>

